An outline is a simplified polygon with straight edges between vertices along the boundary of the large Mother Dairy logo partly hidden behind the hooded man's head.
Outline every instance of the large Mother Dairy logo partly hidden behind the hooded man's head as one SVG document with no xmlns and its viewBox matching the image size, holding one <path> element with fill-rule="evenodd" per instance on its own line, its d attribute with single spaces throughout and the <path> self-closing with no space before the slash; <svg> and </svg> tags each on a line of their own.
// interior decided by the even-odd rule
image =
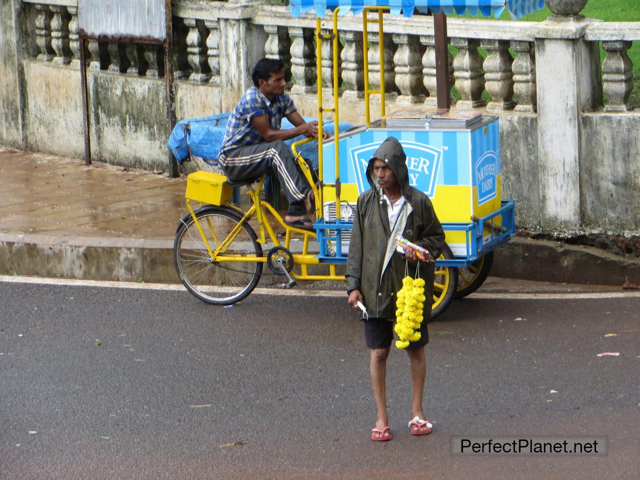
<svg viewBox="0 0 640 480">
<path fill-rule="evenodd" d="M 366 145 L 359 145 L 349 150 L 351 165 L 355 172 L 356 184 L 358 184 L 358 193 L 369 189 L 369 182 L 367 182 L 367 165 L 369 165 L 369 160 L 381 144 L 382 141 L 376 141 L 374 143 L 367 143 Z M 415 141 L 400 140 L 400 144 L 406 154 L 409 184 L 426 193 L 429 198 L 433 197 L 436 188 L 436 179 L 438 178 L 438 170 L 440 170 L 442 150 Z"/>
</svg>

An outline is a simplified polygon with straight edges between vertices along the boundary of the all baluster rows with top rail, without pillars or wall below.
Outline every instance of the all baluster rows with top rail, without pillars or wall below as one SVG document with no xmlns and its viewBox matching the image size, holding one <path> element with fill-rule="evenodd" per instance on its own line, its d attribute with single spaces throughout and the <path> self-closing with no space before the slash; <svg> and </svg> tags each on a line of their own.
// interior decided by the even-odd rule
<svg viewBox="0 0 640 480">
<path fill-rule="evenodd" d="M 79 67 L 76 0 L 23 0 L 34 13 L 35 58 L 52 65 Z M 173 67 L 175 79 L 195 84 L 220 86 L 220 29 L 225 8 L 218 1 L 181 0 L 175 2 L 173 19 Z M 236 7 L 242 9 L 242 6 Z M 238 15 L 237 15 L 238 16 Z M 387 16 L 388 17 L 388 16 Z M 328 18 L 328 17 L 327 17 Z M 261 4 L 252 12 L 251 23 L 267 35 L 264 54 L 280 57 L 291 70 L 291 92 L 316 92 L 315 19 L 307 15 L 292 19 L 284 6 Z M 325 20 L 326 28 L 330 22 Z M 624 27 L 624 28 L 623 28 Z M 461 109 L 534 113 L 537 104 L 535 38 L 533 22 L 449 19 L 448 33 L 457 50 L 449 58 L 451 84 Z M 633 87 L 632 63 L 627 51 L 640 40 L 640 22 L 618 25 L 596 22 L 586 26 L 586 40 L 602 41 L 607 56 L 602 64 L 604 95 L 609 100 L 604 111 L 628 111 Z M 415 32 L 420 32 L 416 34 Z M 332 68 L 342 79 L 340 95 L 345 99 L 364 97 L 362 20 L 340 20 L 340 64 L 332 65 L 332 44 L 323 46 L 323 87 L 332 82 Z M 369 32 L 369 81 L 378 88 L 380 59 L 378 32 Z M 435 42 L 430 17 L 412 19 L 388 17 L 385 21 L 385 88 L 387 100 L 398 106 L 426 102 L 436 104 Z M 251 47 L 246 45 L 246 47 Z M 253 45 L 255 47 L 255 45 Z M 481 51 L 486 55 L 483 58 Z M 233 55 L 235 52 L 230 52 Z M 232 59 L 231 59 L 232 60 Z M 88 68 L 157 78 L 164 76 L 164 58 L 157 45 L 88 40 Z M 486 92 L 486 93 L 484 93 Z M 488 98 L 488 101 L 483 99 Z M 602 105 L 602 98 L 594 106 Z"/>
</svg>

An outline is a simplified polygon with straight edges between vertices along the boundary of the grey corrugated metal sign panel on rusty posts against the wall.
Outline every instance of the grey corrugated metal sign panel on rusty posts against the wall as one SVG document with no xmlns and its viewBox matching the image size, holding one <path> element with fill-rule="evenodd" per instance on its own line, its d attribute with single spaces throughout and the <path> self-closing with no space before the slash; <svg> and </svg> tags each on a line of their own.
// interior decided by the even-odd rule
<svg viewBox="0 0 640 480">
<path fill-rule="evenodd" d="M 166 0 L 78 0 L 78 32 L 84 38 L 164 42 Z"/>
</svg>

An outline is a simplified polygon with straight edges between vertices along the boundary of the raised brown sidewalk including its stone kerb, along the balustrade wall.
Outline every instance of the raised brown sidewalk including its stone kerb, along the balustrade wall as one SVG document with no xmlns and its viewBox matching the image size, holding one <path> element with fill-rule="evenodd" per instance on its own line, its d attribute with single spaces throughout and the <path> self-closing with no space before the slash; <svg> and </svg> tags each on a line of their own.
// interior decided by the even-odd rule
<svg viewBox="0 0 640 480">
<path fill-rule="evenodd" d="M 178 282 L 172 247 L 185 188 L 184 178 L 0 147 L 0 275 Z M 492 275 L 621 287 L 640 284 L 640 261 L 515 237 L 496 250 Z M 280 280 L 264 275 L 260 286 Z"/>
</svg>

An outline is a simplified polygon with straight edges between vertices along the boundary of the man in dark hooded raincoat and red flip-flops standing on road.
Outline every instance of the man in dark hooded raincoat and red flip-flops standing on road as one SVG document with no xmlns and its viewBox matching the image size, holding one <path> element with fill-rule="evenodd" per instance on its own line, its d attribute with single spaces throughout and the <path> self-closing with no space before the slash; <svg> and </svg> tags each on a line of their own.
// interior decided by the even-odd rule
<svg viewBox="0 0 640 480">
<path fill-rule="evenodd" d="M 358 198 L 358 209 L 349 245 L 347 292 L 349 305 L 358 301 L 367 308 L 364 319 L 365 342 L 371 349 L 371 381 L 378 408 L 372 440 L 390 440 L 385 377 L 387 357 L 393 340 L 396 317 L 396 294 L 402 288 L 406 268 L 408 274 L 424 279 L 424 320 L 421 338 L 411 342 L 410 358 L 413 395 L 410 433 L 424 435 L 431 431 L 422 410 L 426 361 L 424 346 L 429 341 L 426 323 L 433 300 L 433 259 L 445 248 L 444 231 L 433 211 L 428 196 L 409 184 L 406 155 L 400 142 L 389 137 L 376 150 L 367 167 L 371 189 Z M 420 262 L 414 250 L 399 252 L 395 238 L 401 235 L 423 248 L 433 259 Z"/>
</svg>

